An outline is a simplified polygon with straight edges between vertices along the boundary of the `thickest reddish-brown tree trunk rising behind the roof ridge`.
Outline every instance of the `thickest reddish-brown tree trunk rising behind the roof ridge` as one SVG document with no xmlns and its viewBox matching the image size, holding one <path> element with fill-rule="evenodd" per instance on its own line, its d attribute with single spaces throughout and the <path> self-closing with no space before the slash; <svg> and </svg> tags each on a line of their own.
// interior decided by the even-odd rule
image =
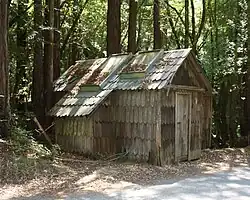
<svg viewBox="0 0 250 200">
<path fill-rule="evenodd" d="M 107 53 L 121 52 L 121 2 L 108 0 L 107 14 Z"/>
</svg>

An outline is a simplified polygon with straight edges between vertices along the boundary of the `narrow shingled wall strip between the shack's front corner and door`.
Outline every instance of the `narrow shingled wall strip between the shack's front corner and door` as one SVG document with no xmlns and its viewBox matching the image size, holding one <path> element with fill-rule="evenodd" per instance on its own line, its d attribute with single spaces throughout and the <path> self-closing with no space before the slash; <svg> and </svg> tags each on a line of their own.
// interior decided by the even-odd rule
<svg viewBox="0 0 250 200">
<path fill-rule="evenodd" d="M 174 162 L 175 158 L 175 93 L 161 91 L 161 138 L 164 164 Z"/>
</svg>

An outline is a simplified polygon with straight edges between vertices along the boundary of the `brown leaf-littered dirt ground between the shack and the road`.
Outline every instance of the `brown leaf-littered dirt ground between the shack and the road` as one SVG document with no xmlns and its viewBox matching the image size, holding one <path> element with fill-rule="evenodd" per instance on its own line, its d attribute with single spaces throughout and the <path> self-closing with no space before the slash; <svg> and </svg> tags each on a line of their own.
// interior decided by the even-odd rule
<svg viewBox="0 0 250 200">
<path fill-rule="evenodd" d="M 157 181 L 171 178 L 184 178 L 216 171 L 231 170 L 237 166 L 249 166 L 250 147 L 204 150 L 199 160 L 177 165 L 157 167 L 148 164 L 129 162 L 93 161 L 80 156 L 66 154 L 54 161 L 35 162 L 24 171 L 11 171 L 11 163 L 0 156 L 0 195 L 1 199 L 11 199 L 35 194 L 56 195 L 92 190 L 105 192 L 122 189 L 128 185 L 156 184 Z M 3 164 L 5 162 L 5 164 Z M 3 167 L 5 169 L 3 169 Z M 24 166 L 25 167 L 25 166 Z"/>
</svg>

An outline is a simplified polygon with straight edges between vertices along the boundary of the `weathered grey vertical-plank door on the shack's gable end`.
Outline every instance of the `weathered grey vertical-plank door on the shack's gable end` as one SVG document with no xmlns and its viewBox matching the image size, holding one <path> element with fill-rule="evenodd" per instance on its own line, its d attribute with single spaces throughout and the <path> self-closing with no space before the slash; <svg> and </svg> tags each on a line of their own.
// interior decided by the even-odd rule
<svg viewBox="0 0 250 200">
<path fill-rule="evenodd" d="M 176 94 L 176 117 L 175 117 L 175 160 L 188 159 L 189 135 L 190 135 L 190 103 L 191 94 Z"/>
</svg>

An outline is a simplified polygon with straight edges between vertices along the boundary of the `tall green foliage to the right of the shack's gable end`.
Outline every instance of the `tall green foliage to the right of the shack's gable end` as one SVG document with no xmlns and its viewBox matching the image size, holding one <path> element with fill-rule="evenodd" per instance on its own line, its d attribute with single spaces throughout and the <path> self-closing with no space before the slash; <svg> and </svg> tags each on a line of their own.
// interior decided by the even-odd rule
<svg viewBox="0 0 250 200">
<path fill-rule="evenodd" d="M 200 57 L 216 92 L 214 134 L 222 145 L 234 146 L 245 128 L 247 1 L 216 3 L 209 9 L 210 35 Z"/>
</svg>

